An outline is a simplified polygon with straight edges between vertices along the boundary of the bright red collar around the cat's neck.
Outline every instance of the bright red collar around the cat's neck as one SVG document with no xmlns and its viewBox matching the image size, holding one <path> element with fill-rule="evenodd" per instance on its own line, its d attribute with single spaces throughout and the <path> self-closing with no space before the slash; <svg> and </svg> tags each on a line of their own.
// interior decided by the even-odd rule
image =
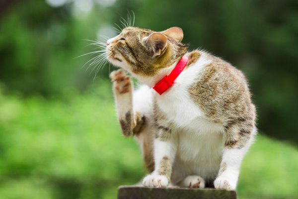
<svg viewBox="0 0 298 199">
<path fill-rule="evenodd" d="M 180 73 L 185 68 L 186 64 L 188 62 L 188 57 L 186 55 L 183 55 L 183 57 L 179 60 L 175 68 L 172 70 L 172 72 L 169 74 L 169 76 L 164 76 L 154 87 L 153 89 L 159 94 L 163 94 L 168 88 L 170 88 L 176 78 L 180 75 Z"/>
</svg>

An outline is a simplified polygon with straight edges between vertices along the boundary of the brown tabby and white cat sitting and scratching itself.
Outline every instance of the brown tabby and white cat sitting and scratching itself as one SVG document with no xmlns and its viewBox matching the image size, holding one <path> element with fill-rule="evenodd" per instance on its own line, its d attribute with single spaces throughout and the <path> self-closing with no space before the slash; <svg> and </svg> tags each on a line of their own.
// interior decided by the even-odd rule
<svg viewBox="0 0 298 199">
<path fill-rule="evenodd" d="M 244 75 L 204 50 L 188 52 L 183 31 L 125 27 L 106 42 L 117 115 L 125 136 L 140 144 L 145 187 L 235 190 L 241 161 L 256 135 L 256 110 Z M 152 88 L 183 57 L 173 85 Z M 134 91 L 126 71 L 142 86 Z"/>
</svg>

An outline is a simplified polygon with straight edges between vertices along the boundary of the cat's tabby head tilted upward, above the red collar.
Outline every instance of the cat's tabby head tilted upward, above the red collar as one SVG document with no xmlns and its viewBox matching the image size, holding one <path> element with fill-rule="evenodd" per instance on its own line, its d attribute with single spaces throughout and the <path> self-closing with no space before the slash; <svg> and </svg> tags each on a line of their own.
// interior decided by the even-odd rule
<svg viewBox="0 0 298 199">
<path fill-rule="evenodd" d="M 172 27 L 162 32 L 126 27 L 119 35 L 107 40 L 108 60 L 131 73 L 153 77 L 164 67 L 179 60 L 186 52 L 183 31 Z"/>
</svg>

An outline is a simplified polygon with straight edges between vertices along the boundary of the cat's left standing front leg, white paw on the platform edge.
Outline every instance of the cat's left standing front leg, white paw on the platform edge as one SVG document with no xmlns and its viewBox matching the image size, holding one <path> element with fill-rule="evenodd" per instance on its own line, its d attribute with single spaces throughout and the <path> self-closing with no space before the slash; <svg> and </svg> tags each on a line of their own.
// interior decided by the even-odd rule
<svg viewBox="0 0 298 199">
<path fill-rule="evenodd" d="M 167 187 L 170 183 L 176 144 L 168 127 L 159 126 L 154 139 L 154 171 L 143 180 L 145 187 Z"/>
</svg>

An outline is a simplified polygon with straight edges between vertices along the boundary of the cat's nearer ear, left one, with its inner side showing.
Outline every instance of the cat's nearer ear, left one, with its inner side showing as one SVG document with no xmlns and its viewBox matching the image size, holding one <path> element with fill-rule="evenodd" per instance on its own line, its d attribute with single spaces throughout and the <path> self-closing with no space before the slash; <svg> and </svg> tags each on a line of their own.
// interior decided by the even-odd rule
<svg viewBox="0 0 298 199">
<path fill-rule="evenodd" d="M 144 41 L 149 48 L 152 58 L 162 55 L 166 50 L 167 37 L 160 32 L 151 33 L 148 37 L 144 38 Z"/>
</svg>

